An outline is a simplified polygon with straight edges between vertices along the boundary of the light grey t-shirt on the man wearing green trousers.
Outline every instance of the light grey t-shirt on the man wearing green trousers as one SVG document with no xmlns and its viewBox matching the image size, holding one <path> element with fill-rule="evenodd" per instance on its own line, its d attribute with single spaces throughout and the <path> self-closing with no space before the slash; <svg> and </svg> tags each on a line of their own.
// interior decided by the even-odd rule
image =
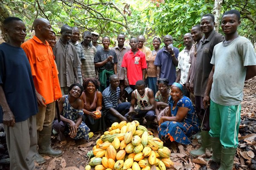
<svg viewBox="0 0 256 170">
<path fill-rule="evenodd" d="M 211 64 L 215 65 L 210 98 L 219 105 L 239 105 L 243 98 L 246 66 L 256 65 L 252 43 L 237 37 L 228 44 L 215 45 Z"/>
</svg>

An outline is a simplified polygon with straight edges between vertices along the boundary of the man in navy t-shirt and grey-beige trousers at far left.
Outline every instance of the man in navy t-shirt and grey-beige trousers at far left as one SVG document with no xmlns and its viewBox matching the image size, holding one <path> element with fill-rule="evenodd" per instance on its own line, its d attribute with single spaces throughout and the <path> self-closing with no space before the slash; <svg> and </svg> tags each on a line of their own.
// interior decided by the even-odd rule
<svg viewBox="0 0 256 170">
<path fill-rule="evenodd" d="M 31 68 L 20 45 L 26 26 L 20 18 L 3 22 L 8 41 L 0 45 L 0 123 L 6 132 L 10 170 L 34 170 L 38 112 Z"/>
</svg>

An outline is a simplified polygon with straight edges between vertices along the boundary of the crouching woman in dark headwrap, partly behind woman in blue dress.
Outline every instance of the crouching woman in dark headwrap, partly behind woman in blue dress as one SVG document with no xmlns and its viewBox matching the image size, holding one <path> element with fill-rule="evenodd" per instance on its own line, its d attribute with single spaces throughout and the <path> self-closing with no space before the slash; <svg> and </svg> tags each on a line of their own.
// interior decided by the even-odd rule
<svg viewBox="0 0 256 170">
<path fill-rule="evenodd" d="M 159 122 L 162 116 L 166 116 L 168 113 L 168 99 L 171 96 L 171 89 L 168 88 L 169 80 L 160 78 L 157 80 L 158 90 L 155 96 L 156 101 L 156 115 L 157 122 Z"/>
</svg>

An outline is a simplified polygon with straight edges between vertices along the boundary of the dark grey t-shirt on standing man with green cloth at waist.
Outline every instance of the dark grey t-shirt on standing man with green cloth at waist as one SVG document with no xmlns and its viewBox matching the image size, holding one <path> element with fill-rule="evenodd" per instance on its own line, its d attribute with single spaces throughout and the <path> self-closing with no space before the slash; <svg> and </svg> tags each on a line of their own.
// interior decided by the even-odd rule
<svg viewBox="0 0 256 170">
<path fill-rule="evenodd" d="M 103 65 L 102 67 L 100 67 L 100 70 L 113 70 L 113 64 L 117 63 L 117 58 L 116 58 L 116 52 L 113 50 L 108 50 L 105 51 L 104 49 L 101 49 L 99 51 L 96 52 L 95 57 L 94 57 L 94 63 L 96 62 L 102 62 L 105 59 L 107 59 L 109 56 L 113 56 L 113 60 L 112 62 L 107 62 L 105 65 Z"/>
</svg>

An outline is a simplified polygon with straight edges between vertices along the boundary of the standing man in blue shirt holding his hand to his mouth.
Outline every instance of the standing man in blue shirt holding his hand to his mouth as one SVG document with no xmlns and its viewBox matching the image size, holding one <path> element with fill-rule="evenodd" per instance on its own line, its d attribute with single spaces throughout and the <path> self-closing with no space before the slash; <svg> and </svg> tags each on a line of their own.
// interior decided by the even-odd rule
<svg viewBox="0 0 256 170">
<path fill-rule="evenodd" d="M 166 35 L 163 37 L 165 46 L 157 52 L 154 65 L 157 66 L 157 80 L 166 78 L 169 80 L 169 85 L 172 85 L 176 80 L 176 68 L 178 65 L 179 49 L 176 47 L 170 48 L 172 44 L 172 36 Z"/>
</svg>

